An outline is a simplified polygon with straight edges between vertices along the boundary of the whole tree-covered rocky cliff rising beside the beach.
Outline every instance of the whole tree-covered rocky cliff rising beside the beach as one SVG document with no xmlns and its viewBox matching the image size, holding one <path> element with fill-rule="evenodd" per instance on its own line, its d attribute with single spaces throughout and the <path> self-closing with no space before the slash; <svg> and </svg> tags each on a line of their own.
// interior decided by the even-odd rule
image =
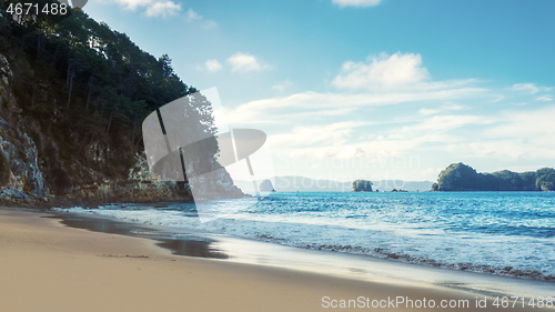
<svg viewBox="0 0 555 312">
<path fill-rule="evenodd" d="M 190 201 L 186 183 L 151 179 L 141 124 L 196 92 L 169 56 L 153 57 L 79 9 L 22 19 L 0 1 L 0 204 Z M 182 109 L 198 122 L 188 135 L 216 133 L 202 94 Z M 216 141 L 206 149 L 215 157 Z M 203 187 L 242 195 L 219 174 Z"/>
</svg>

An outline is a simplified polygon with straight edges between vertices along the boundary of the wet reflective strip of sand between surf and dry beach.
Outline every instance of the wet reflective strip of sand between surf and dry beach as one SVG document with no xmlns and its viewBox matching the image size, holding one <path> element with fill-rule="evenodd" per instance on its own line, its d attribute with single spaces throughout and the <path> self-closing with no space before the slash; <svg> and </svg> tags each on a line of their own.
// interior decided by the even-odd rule
<svg viewBox="0 0 555 312">
<path fill-rule="evenodd" d="M 71 228 L 150 239 L 157 245 L 181 256 L 220 259 L 319 274 L 326 272 L 326 275 L 360 281 L 426 284 L 478 295 L 529 299 L 555 293 L 555 283 L 543 280 L 452 270 L 372 255 L 301 249 L 223 234 L 184 232 L 183 229 L 147 225 L 103 215 L 53 212 L 51 218 L 60 219 L 62 224 Z"/>
</svg>

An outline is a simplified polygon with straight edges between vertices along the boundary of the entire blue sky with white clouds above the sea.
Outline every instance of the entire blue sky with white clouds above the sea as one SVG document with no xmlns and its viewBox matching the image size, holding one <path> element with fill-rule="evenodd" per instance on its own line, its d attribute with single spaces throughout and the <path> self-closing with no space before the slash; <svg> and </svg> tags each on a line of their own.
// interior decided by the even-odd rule
<svg viewBox="0 0 555 312">
<path fill-rule="evenodd" d="M 554 167 L 554 1 L 92 0 L 97 20 L 216 87 L 278 175 L 435 181 Z"/>
</svg>

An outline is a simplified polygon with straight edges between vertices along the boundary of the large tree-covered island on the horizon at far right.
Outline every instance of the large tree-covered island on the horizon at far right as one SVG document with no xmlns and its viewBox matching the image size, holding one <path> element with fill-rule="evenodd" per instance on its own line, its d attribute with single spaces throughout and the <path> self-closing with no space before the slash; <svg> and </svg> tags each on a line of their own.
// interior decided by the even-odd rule
<svg viewBox="0 0 555 312">
<path fill-rule="evenodd" d="M 432 191 L 555 191 L 555 169 L 478 173 L 462 162 L 452 163 L 440 173 Z"/>
</svg>

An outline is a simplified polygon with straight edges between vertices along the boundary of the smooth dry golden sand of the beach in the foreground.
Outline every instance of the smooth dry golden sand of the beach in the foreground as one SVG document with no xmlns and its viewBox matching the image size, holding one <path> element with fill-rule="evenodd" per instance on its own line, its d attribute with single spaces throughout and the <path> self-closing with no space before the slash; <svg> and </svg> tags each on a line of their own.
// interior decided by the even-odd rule
<svg viewBox="0 0 555 312">
<path fill-rule="evenodd" d="M 434 300 L 426 311 L 496 310 L 491 299 L 477 309 L 477 295 L 461 290 L 173 255 L 152 240 L 67 228 L 46 215 L 0 209 L 0 311 L 343 311 L 333 306 L 352 300 L 353 310 L 370 310 L 373 300 L 396 296 Z M 442 300 L 470 306 L 441 308 Z"/>
</svg>

